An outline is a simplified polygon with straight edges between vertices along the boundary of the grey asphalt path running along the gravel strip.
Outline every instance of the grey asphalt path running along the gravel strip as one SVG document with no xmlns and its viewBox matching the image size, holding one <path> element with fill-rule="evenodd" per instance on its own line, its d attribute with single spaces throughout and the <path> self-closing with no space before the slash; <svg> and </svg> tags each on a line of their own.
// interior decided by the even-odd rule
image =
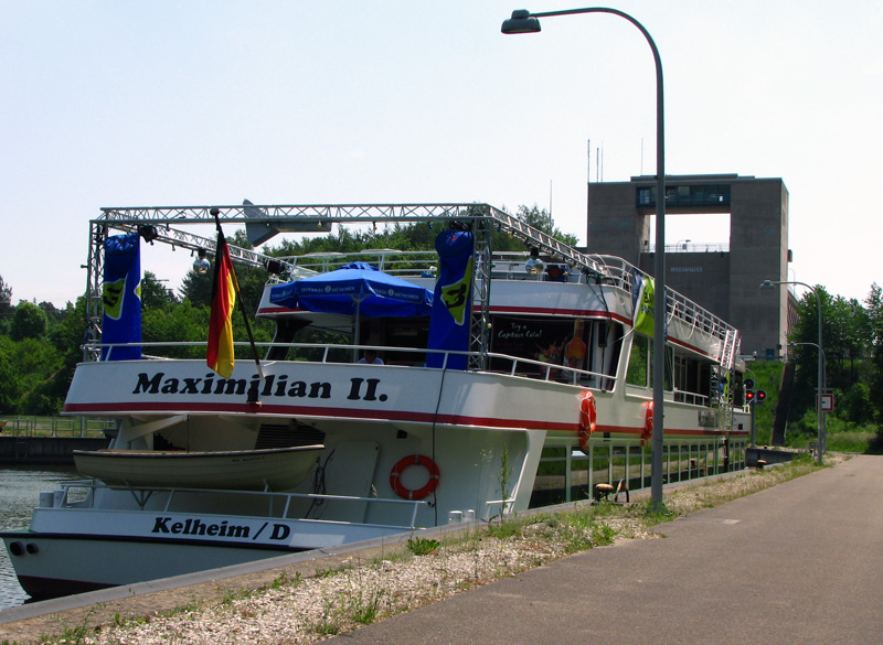
<svg viewBox="0 0 883 645">
<path fill-rule="evenodd" d="M 331 638 L 342 644 L 883 642 L 883 458 L 660 525 Z"/>
</svg>

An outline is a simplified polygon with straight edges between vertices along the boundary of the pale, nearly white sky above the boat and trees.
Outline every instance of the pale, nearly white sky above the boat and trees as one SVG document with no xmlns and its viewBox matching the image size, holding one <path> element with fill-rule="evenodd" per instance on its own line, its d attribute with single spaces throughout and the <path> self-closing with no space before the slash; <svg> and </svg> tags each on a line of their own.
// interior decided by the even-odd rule
<svg viewBox="0 0 883 645">
<path fill-rule="evenodd" d="M 596 149 L 605 181 L 655 173 L 650 50 L 603 14 L 500 33 L 513 9 L 578 6 L 3 0 L 0 276 L 14 302 L 75 300 L 102 206 L 551 198 L 585 244 Z M 790 278 L 883 283 L 883 2 L 610 6 L 659 47 L 668 174 L 781 178 Z M 726 241 L 684 216 L 667 237 Z M 190 262 L 142 250 L 172 286 Z"/>
</svg>

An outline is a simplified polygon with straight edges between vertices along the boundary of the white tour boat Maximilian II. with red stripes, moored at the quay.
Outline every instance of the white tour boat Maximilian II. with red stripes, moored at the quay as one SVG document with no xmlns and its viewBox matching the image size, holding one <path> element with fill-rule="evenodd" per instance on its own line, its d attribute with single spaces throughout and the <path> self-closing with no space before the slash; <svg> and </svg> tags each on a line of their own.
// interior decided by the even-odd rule
<svg viewBox="0 0 883 645">
<path fill-rule="evenodd" d="M 276 335 L 259 359 L 236 343 L 225 378 L 204 358 L 169 357 L 194 343 L 113 331 L 132 302 L 113 273 L 116 247 L 134 239 L 148 258 L 140 236 L 213 254 L 213 237 L 181 227 L 215 222 L 244 224 L 257 244 L 277 230 L 422 223 L 444 232 L 442 257 L 231 247 L 234 264 L 273 273 L 256 314 Z M 89 233 L 91 342 L 64 413 L 116 430 L 109 452 L 77 455 L 85 479 L 41 494 L 30 527 L 1 534 L 33 596 L 488 522 L 591 498 L 598 483 L 649 485 L 652 340 L 636 310 L 652 282 L 621 259 L 481 204 L 106 208 Z M 494 254 L 499 233 L 525 251 Z M 334 269 L 370 270 L 353 260 L 400 281 L 348 292 Z M 744 467 L 736 330 L 671 291 L 664 315 L 663 476 Z M 365 348 L 383 364 L 359 363 Z"/>
</svg>

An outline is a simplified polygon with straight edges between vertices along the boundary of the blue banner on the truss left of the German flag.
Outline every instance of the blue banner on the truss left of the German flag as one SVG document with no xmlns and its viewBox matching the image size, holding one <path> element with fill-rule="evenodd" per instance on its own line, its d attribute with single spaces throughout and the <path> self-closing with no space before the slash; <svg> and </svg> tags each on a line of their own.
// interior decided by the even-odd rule
<svg viewBox="0 0 883 645">
<path fill-rule="evenodd" d="M 141 342 L 141 255 L 137 233 L 115 235 L 104 243 L 104 323 L 102 343 Z M 102 347 L 103 361 L 141 357 L 141 347 Z"/>
</svg>

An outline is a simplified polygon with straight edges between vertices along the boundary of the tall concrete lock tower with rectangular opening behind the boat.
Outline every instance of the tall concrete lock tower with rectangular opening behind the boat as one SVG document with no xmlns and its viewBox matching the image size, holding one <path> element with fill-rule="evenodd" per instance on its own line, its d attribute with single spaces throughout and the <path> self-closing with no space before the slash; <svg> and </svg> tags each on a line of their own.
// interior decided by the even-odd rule
<svg viewBox="0 0 883 645">
<path fill-rule="evenodd" d="M 764 280 L 787 280 L 788 190 L 780 179 L 737 174 L 666 179 L 666 216 L 730 214 L 730 239 L 667 245 L 666 283 L 710 309 L 742 334 L 742 354 L 778 358 L 794 320 L 787 289 L 759 291 Z M 652 275 L 656 178 L 588 184 L 588 250 L 619 256 Z"/>
</svg>

